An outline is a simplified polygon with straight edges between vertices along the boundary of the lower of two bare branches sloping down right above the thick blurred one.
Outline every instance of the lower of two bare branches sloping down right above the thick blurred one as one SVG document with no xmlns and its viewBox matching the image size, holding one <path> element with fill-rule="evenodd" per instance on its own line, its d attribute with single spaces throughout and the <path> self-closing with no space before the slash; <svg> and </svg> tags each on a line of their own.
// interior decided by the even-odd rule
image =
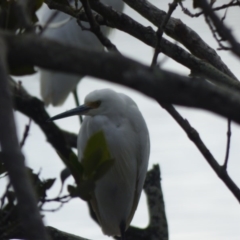
<svg viewBox="0 0 240 240">
<path fill-rule="evenodd" d="M 117 13 L 99 1 L 93 1 L 91 6 L 95 11 L 99 12 L 102 16 L 104 16 L 105 19 L 107 19 L 108 26 L 116 27 L 117 29 L 136 37 L 145 44 L 153 48 L 156 47 L 157 35 L 151 27 L 144 27 L 134 19 L 128 17 L 126 14 Z M 59 4 L 57 3 L 53 4 L 53 2 L 51 7 L 59 10 L 63 10 L 64 8 L 63 6 L 59 7 Z M 77 16 L 79 15 L 76 14 L 75 17 Z M 171 19 L 172 18 L 170 18 L 170 20 Z M 100 19 L 100 23 L 102 22 L 103 20 Z M 160 47 L 164 54 L 189 68 L 194 76 L 202 76 L 218 85 L 228 86 L 235 89 L 240 88 L 239 82 L 236 81 L 235 78 L 229 77 L 232 76 L 230 71 L 226 73 L 229 74 L 229 76 L 227 76 L 217 68 L 213 67 L 211 64 L 194 57 L 183 48 L 171 43 L 165 38 L 162 38 Z"/>
</svg>

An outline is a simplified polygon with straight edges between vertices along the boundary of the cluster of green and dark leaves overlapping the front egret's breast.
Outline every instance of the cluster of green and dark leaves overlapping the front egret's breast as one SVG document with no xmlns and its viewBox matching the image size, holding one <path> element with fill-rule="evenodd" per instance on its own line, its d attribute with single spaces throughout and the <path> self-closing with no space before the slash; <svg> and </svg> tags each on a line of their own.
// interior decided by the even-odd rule
<svg viewBox="0 0 240 240">
<path fill-rule="evenodd" d="M 89 138 L 81 162 L 74 154 L 71 154 L 69 159 L 62 156 L 61 158 L 77 183 L 77 187 L 68 186 L 70 195 L 72 197 L 79 196 L 83 200 L 91 198 L 95 181 L 103 177 L 114 164 L 103 131 L 96 132 Z M 62 185 L 68 177 L 69 171 L 64 169 L 61 172 Z"/>
</svg>

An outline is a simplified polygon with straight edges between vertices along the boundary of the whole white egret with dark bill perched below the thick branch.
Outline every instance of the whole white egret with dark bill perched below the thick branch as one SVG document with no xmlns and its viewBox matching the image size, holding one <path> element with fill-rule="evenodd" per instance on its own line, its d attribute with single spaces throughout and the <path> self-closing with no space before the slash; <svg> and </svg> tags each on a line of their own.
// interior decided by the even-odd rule
<svg viewBox="0 0 240 240">
<path fill-rule="evenodd" d="M 90 137 L 102 130 L 114 165 L 96 181 L 90 203 L 104 234 L 121 235 L 137 208 L 149 159 L 149 134 L 136 103 L 110 89 L 88 94 L 84 105 L 52 117 L 86 115 L 78 135 L 78 159 L 82 160 Z"/>
</svg>

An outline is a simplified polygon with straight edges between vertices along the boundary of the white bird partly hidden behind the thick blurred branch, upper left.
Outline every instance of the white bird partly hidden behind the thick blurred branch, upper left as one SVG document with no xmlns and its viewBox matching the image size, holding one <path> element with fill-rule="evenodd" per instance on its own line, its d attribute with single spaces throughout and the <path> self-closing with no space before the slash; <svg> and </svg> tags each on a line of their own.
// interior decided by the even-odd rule
<svg viewBox="0 0 240 240">
<path fill-rule="evenodd" d="M 122 0 L 102 0 L 106 5 L 112 6 L 115 10 L 122 12 L 124 3 Z M 81 3 L 79 3 L 80 7 Z M 40 23 L 44 26 L 56 10 L 50 10 L 46 6 L 41 9 Z M 83 23 L 89 27 L 89 24 Z M 104 35 L 108 35 L 110 29 L 101 27 Z M 83 31 L 77 24 L 76 19 L 59 12 L 44 30 L 43 36 L 56 40 L 63 44 L 74 47 L 89 48 L 90 50 L 103 51 L 104 47 L 97 37 L 90 31 Z M 68 94 L 76 88 L 83 76 L 69 75 L 61 72 L 40 70 L 41 96 L 46 105 L 61 105 Z"/>
</svg>

